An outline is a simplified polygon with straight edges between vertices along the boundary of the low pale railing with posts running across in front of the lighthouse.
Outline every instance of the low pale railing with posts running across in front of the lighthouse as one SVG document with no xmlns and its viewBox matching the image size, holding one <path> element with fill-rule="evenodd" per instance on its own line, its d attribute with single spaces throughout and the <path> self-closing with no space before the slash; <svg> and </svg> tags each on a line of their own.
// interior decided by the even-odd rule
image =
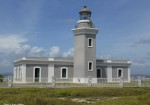
<svg viewBox="0 0 150 105">
<path fill-rule="evenodd" d="M 0 78 L 0 88 L 65 88 L 65 87 L 150 87 L 150 78 L 84 78 L 86 83 L 74 83 L 73 78 Z M 96 82 L 94 82 L 96 80 Z"/>
</svg>

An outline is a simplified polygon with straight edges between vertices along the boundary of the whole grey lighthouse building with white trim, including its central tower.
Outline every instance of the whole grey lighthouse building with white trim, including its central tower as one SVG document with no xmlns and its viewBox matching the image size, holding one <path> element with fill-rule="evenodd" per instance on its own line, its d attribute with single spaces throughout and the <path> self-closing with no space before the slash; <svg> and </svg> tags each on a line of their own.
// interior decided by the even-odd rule
<svg viewBox="0 0 150 105">
<path fill-rule="evenodd" d="M 98 82 L 106 78 L 113 82 L 122 77 L 130 81 L 130 61 L 96 59 L 96 34 L 91 11 L 84 6 L 80 19 L 72 29 L 74 58 L 23 57 L 14 61 L 14 82 L 53 82 L 55 79 L 73 83 Z"/>
</svg>

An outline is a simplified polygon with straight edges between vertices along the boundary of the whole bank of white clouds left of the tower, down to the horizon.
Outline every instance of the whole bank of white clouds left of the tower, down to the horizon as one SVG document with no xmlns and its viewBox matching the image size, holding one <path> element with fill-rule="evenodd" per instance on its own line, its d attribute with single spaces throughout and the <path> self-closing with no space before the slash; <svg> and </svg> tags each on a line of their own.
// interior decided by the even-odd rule
<svg viewBox="0 0 150 105">
<path fill-rule="evenodd" d="M 61 52 L 60 47 L 53 46 L 48 51 L 39 46 L 28 44 L 28 39 L 22 35 L 0 36 L 0 72 L 10 72 L 14 59 L 21 57 L 73 57 L 74 49 Z M 5 69 L 5 71 L 1 71 Z M 7 70 L 6 70 L 7 69 Z"/>
</svg>

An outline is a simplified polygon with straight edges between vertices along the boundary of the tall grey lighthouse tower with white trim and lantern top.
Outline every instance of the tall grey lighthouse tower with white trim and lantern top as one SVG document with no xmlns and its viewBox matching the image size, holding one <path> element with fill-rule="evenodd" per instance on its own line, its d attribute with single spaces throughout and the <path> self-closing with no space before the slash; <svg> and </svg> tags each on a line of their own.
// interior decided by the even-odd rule
<svg viewBox="0 0 150 105">
<path fill-rule="evenodd" d="M 74 83 L 97 82 L 96 79 L 96 34 L 91 20 L 91 11 L 84 6 L 79 12 L 80 20 L 72 29 L 74 33 Z"/>
</svg>

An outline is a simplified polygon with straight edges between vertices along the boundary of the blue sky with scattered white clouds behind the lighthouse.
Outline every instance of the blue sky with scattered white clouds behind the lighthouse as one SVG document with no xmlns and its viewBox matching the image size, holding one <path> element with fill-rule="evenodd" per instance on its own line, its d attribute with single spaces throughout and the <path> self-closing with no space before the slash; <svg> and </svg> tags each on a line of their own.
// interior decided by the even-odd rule
<svg viewBox="0 0 150 105">
<path fill-rule="evenodd" d="M 97 58 L 130 60 L 150 74 L 150 0 L 0 0 L 0 74 L 23 56 L 73 57 L 73 29 L 86 5 L 99 29 Z"/>
</svg>

